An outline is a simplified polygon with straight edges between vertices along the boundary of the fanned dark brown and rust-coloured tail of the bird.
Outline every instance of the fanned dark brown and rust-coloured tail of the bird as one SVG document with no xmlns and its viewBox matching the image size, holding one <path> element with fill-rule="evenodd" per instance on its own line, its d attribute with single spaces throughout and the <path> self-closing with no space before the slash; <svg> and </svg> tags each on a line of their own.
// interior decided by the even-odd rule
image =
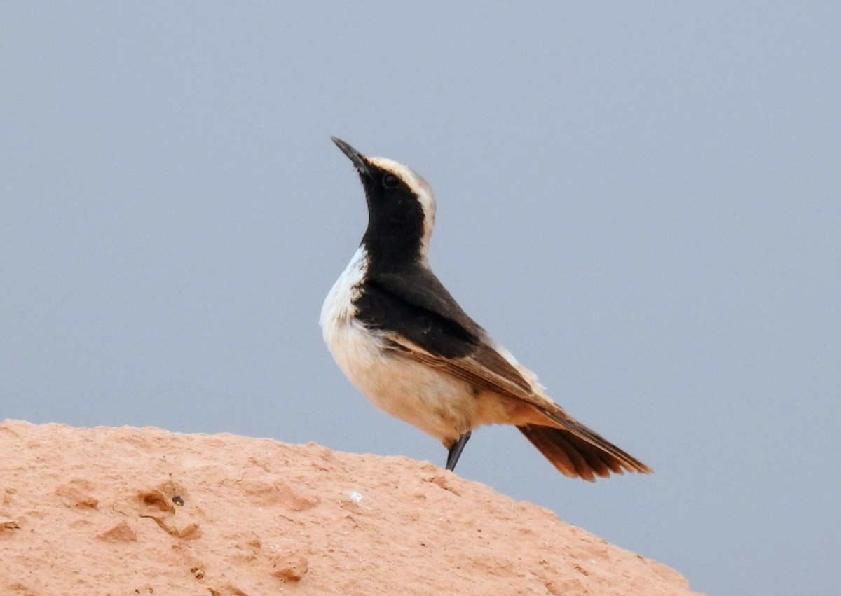
<svg viewBox="0 0 841 596">
<path fill-rule="evenodd" d="M 560 422 L 555 416 L 552 418 Z M 636 457 L 622 451 L 569 415 L 564 418 L 563 429 L 540 425 L 517 426 L 526 435 L 526 439 L 532 441 L 532 445 L 564 476 L 594 482 L 596 476 L 608 477 L 611 472 L 653 472 Z"/>
</svg>

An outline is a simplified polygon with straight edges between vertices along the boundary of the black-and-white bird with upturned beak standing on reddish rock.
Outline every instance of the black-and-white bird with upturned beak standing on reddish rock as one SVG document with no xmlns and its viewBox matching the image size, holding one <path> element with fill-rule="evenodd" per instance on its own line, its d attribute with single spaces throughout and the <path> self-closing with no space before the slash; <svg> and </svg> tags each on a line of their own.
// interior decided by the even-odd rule
<svg viewBox="0 0 841 596">
<path fill-rule="evenodd" d="M 368 203 L 362 242 L 319 320 L 352 384 L 378 409 L 440 440 L 450 471 L 473 430 L 504 424 L 567 477 L 652 472 L 567 414 L 447 292 L 429 261 L 436 200 L 426 180 L 331 140 L 352 162 Z"/>
</svg>

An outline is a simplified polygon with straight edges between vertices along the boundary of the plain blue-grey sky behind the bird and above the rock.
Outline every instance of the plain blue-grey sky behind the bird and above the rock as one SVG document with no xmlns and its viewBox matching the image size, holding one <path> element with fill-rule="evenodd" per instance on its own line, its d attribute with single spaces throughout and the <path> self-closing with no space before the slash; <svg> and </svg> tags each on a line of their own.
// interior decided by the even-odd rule
<svg viewBox="0 0 841 596">
<path fill-rule="evenodd" d="M 834 593 L 841 8 L 787 4 L 3 3 L 0 418 L 442 465 L 322 344 L 366 221 L 334 134 L 426 177 L 438 277 L 657 470 L 487 428 L 460 475 L 702 592 Z"/>
</svg>

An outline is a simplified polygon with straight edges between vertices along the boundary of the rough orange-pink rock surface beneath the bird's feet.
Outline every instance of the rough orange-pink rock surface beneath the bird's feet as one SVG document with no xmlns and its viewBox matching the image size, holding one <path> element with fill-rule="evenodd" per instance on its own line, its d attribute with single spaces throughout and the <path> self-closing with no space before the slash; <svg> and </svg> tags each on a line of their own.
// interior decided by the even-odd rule
<svg viewBox="0 0 841 596">
<path fill-rule="evenodd" d="M 430 463 L 156 428 L 0 424 L 0 593 L 692 594 Z"/>
</svg>

